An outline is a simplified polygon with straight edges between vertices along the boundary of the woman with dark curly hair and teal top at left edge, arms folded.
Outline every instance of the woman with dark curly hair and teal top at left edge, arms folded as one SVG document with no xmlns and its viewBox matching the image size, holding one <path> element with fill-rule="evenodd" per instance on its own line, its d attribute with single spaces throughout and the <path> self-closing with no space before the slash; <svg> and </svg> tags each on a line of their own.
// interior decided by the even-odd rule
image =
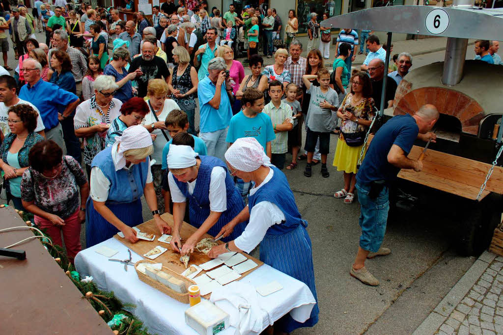
<svg viewBox="0 0 503 335">
<path fill-rule="evenodd" d="M 35 132 L 38 113 L 28 104 L 17 104 L 9 109 L 7 123 L 11 131 L 0 146 L 0 169 L 4 171 L 7 202 L 24 210 L 21 202 L 21 176 L 30 166 L 30 149 L 44 138 Z"/>
</svg>

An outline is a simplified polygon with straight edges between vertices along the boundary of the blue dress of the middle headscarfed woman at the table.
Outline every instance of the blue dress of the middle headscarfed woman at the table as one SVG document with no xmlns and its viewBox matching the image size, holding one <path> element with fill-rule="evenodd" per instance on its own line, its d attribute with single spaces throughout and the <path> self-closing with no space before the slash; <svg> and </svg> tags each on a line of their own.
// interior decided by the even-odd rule
<svg viewBox="0 0 503 335">
<path fill-rule="evenodd" d="M 214 167 L 221 166 L 226 172 L 225 176 L 225 188 L 227 191 L 227 209 L 222 212 L 220 218 L 208 231 L 208 234 L 215 237 L 223 226 L 229 223 L 239 212 L 244 208 L 244 202 L 234 185 L 234 181 L 227 171 L 227 166 L 220 159 L 212 156 L 200 156 L 201 165 L 199 166 L 199 172 L 197 173 L 196 186 L 194 187 L 194 192 L 189 193 L 189 188 L 187 183 L 178 181 L 177 178 L 173 178 L 178 188 L 188 200 L 189 205 L 189 215 L 190 224 L 196 228 L 201 227 L 203 222 L 210 215 L 210 182 L 211 182 L 211 171 Z M 224 242 L 229 242 L 235 240 L 246 227 L 245 222 L 239 222 L 239 224 L 234 227 L 232 234 L 222 239 Z"/>
</svg>

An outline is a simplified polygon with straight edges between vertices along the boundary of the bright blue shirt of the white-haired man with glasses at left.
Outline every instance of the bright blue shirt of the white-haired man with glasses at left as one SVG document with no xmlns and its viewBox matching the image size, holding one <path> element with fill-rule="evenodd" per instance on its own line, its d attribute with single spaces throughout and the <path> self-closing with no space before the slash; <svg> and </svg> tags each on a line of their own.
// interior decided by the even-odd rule
<svg viewBox="0 0 503 335">
<path fill-rule="evenodd" d="M 59 124 L 58 113 L 78 97 L 53 83 L 40 79 L 33 86 L 26 84 L 21 87 L 19 98 L 30 101 L 38 108 L 47 132 Z"/>
</svg>

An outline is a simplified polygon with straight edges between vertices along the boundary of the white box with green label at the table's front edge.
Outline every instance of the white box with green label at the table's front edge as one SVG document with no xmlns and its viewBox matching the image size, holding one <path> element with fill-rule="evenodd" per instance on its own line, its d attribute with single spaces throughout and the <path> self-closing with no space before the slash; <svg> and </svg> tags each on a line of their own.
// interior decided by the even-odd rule
<svg viewBox="0 0 503 335">
<path fill-rule="evenodd" d="M 215 335 L 229 327 L 229 314 L 208 300 L 185 311 L 185 323 L 201 335 Z"/>
</svg>

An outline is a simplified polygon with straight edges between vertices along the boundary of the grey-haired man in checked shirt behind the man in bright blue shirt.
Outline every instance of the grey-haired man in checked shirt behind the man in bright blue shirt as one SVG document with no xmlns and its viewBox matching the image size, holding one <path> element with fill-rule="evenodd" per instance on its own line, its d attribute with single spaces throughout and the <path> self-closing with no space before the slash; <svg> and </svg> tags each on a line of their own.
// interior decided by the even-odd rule
<svg viewBox="0 0 503 335">
<path fill-rule="evenodd" d="M 51 59 L 52 53 L 55 52 L 56 50 L 63 50 L 68 54 L 68 56 L 70 56 L 71 73 L 75 78 L 76 94 L 77 96 L 80 96 L 82 94 L 82 78 L 84 77 L 84 74 L 88 71 L 88 64 L 86 61 L 86 57 L 84 57 L 84 55 L 82 55 L 80 51 L 68 45 L 68 34 L 66 33 L 66 31 L 62 29 L 54 31 L 52 37 L 52 45 L 54 46 L 54 48 L 49 50 L 49 53 L 47 55 L 49 59 Z M 54 70 L 50 66 L 50 62 L 49 67 L 51 68 L 51 70 Z"/>
</svg>

